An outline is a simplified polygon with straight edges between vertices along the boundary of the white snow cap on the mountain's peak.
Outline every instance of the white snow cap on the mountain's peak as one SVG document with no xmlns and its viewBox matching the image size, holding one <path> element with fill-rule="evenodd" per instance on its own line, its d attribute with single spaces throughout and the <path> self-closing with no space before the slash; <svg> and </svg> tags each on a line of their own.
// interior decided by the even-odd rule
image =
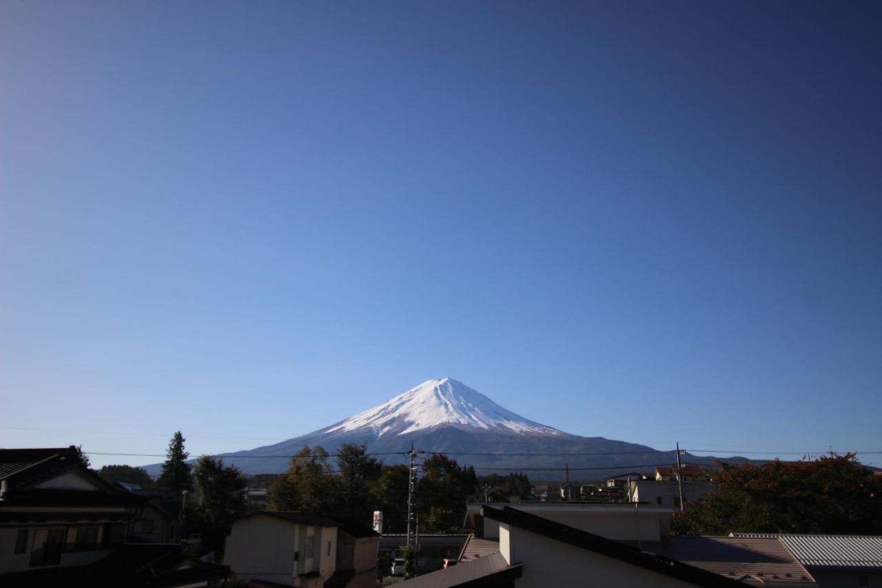
<svg viewBox="0 0 882 588">
<path fill-rule="evenodd" d="M 477 390 L 450 378 L 424 381 L 387 403 L 325 429 L 325 433 L 368 428 L 380 437 L 384 434 L 414 433 L 440 425 L 507 429 L 514 433 L 527 434 L 562 434 L 555 428 L 534 423 L 512 411 L 506 411 Z"/>
</svg>

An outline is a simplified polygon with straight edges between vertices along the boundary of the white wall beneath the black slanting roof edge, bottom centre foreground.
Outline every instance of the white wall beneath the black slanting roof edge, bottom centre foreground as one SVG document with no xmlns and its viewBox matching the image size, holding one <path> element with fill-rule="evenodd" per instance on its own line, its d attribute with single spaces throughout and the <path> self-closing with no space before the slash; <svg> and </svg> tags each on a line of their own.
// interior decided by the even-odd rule
<svg viewBox="0 0 882 588">
<path fill-rule="evenodd" d="M 523 563 L 523 576 L 517 588 L 574 586 L 641 586 L 645 588 L 695 588 L 673 577 L 664 576 L 611 557 L 573 547 L 517 527 L 501 525 L 500 551 L 506 561 Z M 507 544 L 504 546 L 503 544 Z"/>
</svg>

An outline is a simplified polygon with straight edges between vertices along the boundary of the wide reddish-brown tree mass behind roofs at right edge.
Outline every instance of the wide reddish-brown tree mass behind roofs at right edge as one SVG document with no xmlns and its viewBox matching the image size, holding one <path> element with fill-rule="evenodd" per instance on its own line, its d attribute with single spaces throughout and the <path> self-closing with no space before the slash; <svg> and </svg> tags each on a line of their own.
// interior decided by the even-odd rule
<svg viewBox="0 0 882 588">
<path fill-rule="evenodd" d="M 882 533 L 882 480 L 853 454 L 720 468 L 716 492 L 676 513 L 673 532 Z"/>
</svg>

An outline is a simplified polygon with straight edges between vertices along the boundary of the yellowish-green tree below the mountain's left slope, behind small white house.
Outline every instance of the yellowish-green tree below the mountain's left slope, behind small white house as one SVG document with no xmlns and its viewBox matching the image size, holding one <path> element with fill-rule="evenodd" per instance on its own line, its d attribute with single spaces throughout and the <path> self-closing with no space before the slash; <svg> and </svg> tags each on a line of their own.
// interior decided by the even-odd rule
<svg viewBox="0 0 882 588">
<path fill-rule="evenodd" d="M 270 487 L 270 508 L 330 515 L 336 496 L 337 479 L 331 473 L 328 452 L 320 446 L 315 450 L 304 446 Z"/>
</svg>

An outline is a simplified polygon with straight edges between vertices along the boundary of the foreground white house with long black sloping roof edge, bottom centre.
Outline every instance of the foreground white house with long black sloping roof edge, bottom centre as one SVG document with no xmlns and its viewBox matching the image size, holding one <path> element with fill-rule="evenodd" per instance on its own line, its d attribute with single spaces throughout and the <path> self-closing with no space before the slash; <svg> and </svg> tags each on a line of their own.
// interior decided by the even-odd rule
<svg viewBox="0 0 882 588">
<path fill-rule="evenodd" d="M 499 553 L 460 562 L 402 588 L 546 586 L 744 586 L 733 579 L 519 509 L 483 507 L 499 529 Z"/>
</svg>

